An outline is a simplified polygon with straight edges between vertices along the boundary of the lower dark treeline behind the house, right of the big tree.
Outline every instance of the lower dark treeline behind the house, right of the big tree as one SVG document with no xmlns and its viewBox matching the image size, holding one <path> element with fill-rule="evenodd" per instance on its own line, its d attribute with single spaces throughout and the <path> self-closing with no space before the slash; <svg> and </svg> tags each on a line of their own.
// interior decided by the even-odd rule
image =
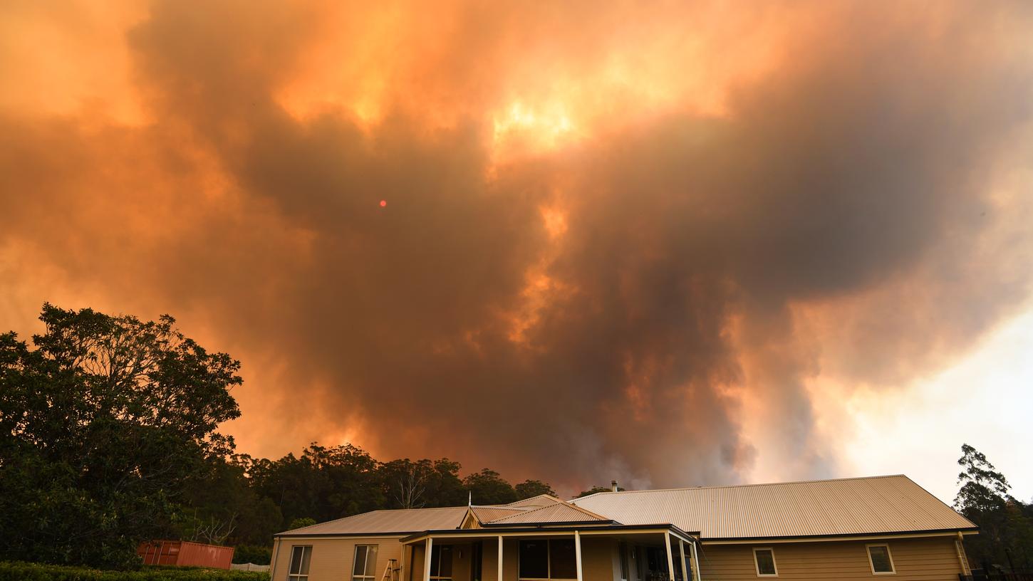
<svg viewBox="0 0 1033 581">
<path fill-rule="evenodd" d="M 377 509 L 512 503 L 556 494 L 538 480 L 512 485 L 483 469 L 461 476 L 448 458 L 378 461 L 350 444 L 313 443 L 278 460 L 232 455 L 212 460 L 183 496 L 185 539 L 215 544 L 272 544 L 274 532 Z"/>
</svg>

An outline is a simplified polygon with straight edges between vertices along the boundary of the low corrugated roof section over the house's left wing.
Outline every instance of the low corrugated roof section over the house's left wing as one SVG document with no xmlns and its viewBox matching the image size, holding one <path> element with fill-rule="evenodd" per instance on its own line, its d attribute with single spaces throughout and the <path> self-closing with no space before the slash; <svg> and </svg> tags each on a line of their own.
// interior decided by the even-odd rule
<svg viewBox="0 0 1033 581">
<path fill-rule="evenodd" d="M 280 535 L 369 535 L 459 528 L 463 524 L 463 518 L 466 517 L 466 507 L 449 507 L 372 511 L 286 530 Z"/>
</svg>

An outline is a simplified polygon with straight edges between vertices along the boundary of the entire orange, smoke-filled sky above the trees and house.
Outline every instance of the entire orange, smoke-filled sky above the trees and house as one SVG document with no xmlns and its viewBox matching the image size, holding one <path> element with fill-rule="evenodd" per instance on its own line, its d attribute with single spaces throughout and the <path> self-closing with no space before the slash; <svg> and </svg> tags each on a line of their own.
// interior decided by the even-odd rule
<svg viewBox="0 0 1033 581">
<path fill-rule="evenodd" d="M 14 1 L 0 323 L 179 318 L 241 451 L 1033 496 L 1023 2 Z"/>
</svg>

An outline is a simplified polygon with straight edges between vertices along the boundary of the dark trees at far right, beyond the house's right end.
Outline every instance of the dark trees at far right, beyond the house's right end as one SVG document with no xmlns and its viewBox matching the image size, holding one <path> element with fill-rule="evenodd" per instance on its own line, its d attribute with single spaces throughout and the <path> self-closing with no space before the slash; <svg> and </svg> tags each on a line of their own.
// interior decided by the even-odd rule
<svg viewBox="0 0 1033 581">
<path fill-rule="evenodd" d="M 1033 503 L 1011 496 L 1004 475 L 968 444 L 962 445 L 958 463 L 963 471 L 954 509 L 979 525 L 979 535 L 965 538 L 969 561 L 973 567 L 1033 568 Z"/>
</svg>

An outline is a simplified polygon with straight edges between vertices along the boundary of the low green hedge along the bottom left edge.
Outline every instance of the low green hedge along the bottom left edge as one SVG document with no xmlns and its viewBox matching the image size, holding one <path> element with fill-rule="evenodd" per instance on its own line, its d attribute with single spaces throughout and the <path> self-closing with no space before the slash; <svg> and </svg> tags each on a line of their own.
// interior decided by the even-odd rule
<svg viewBox="0 0 1033 581">
<path fill-rule="evenodd" d="M 2 561 L 0 581 L 269 581 L 269 574 L 168 567 L 145 567 L 138 571 L 100 571 L 86 567 Z"/>
</svg>

